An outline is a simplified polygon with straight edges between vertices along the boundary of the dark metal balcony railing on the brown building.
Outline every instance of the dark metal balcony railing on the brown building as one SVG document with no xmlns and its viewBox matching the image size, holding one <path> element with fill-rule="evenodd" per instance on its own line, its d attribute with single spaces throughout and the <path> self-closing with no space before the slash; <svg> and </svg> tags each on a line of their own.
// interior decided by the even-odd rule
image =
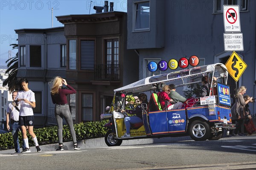
<svg viewBox="0 0 256 170">
<path fill-rule="evenodd" d="M 94 65 L 94 79 L 103 81 L 119 80 L 119 64 L 96 64 Z"/>
</svg>

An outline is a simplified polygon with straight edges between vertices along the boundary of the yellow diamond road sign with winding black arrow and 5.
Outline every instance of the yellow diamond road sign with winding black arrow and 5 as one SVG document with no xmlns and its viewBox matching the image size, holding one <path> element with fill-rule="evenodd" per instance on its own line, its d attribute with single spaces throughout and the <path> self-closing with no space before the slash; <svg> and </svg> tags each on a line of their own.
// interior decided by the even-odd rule
<svg viewBox="0 0 256 170">
<path fill-rule="evenodd" d="M 239 57 L 239 55 L 235 51 L 233 51 L 225 65 L 227 67 L 228 73 L 231 77 L 233 77 L 236 82 L 243 74 L 245 68 L 247 68 L 246 63 Z"/>
</svg>

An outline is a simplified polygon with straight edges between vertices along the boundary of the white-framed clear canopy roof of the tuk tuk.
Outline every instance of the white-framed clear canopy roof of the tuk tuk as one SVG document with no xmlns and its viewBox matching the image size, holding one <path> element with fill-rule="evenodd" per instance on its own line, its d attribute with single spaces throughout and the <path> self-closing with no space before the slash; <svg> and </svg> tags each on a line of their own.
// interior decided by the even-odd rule
<svg viewBox="0 0 256 170">
<path fill-rule="evenodd" d="M 131 83 L 129 85 L 126 85 L 122 88 L 117 88 L 114 90 L 114 92 L 125 92 L 127 93 L 139 93 L 143 91 L 149 91 L 156 89 L 157 85 L 160 83 L 166 83 L 166 82 L 172 82 L 172 81 L 178 81 L 179 85 L 187 85 L 195 82 L 200 82 L 201 79 L 195 79 L 196 77 L 207 75 L 208 73 L 212 73 L 212 77 L 221 78 L 221 77 L 227 77 L 228 72 L 227 68 L 222 63 L 216 63 L 211 65 L 203 65 L 199 67 L 194 67 L 190 69 L 175 71 L 171 73 L 166 74 L 160 74 L 156 76 L 146 77 L 145 79 L 141 79 L 137 82 Z M 194 77 L 194 78 L 193 78 Z M 211 77 L 211 78 L 212 78 Z M 226 82 L 227 84 L 227 79 Z"/>
</svg>

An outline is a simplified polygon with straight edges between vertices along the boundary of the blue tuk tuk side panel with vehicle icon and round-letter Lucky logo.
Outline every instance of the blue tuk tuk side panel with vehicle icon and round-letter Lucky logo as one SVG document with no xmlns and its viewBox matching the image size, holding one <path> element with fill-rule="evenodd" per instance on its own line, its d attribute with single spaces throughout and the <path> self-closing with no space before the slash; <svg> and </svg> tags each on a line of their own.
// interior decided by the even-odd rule
<svg viewBox="0 0 256 170">
<path fill-rule="evenodd" d="M 167 111 L 169 133 L 182 133 L 186 130 L 186 112 L 182 110 Z"/>
</svg>

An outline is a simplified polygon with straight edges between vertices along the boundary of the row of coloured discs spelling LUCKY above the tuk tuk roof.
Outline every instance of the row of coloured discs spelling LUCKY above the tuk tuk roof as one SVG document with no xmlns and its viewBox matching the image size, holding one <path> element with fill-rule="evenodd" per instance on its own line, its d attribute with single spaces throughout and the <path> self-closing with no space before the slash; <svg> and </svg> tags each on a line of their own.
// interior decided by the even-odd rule
<svg viewBox="0 0 256 170">
<path fill-rule="evenodd" d="M 165 60 L 161 60 L 158 64 L 154 61 L 148 63 L 148 71 L 155 72 L 157 68 L 160 71 L 166 71 L 168 68 L 171 70 L 177 69 L 178 66 L 180 68 L 187 68 L 189 65 L 195 67 L 199 64 L 199 58 L 197 56 L 191 56 L 189 59 L 182 57 L 177 61 L 176 59 L 170 59 L 167 63 Z"/>
</svg>

